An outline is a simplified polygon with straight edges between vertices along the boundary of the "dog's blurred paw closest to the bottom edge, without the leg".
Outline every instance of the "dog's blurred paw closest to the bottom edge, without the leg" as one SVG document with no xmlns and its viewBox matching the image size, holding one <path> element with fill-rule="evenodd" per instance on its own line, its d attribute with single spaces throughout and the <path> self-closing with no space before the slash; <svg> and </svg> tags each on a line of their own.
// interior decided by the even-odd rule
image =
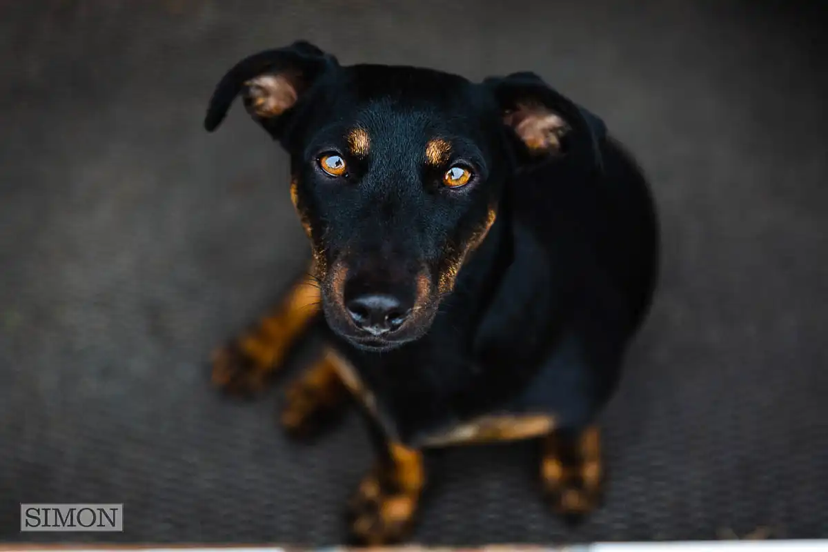
<svg viewBox="0 0 828 552">
<path fill-rule="evenodd" d="M 393 483 L 388 473 L 374 470 L 359 484 L 349 503 L 350 538 L 354 545 L 394 545 L 414 527 L 420 493 Z"/>
</svg>

